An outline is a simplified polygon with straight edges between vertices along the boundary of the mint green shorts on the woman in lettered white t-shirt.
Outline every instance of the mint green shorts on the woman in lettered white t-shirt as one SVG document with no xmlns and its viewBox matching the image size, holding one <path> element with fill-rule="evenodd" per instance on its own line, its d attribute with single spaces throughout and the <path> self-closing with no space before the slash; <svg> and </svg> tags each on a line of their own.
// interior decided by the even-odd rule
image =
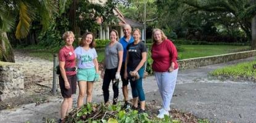
<svg viewBox="0 0 256 123">
<path fill-rule="evenodd" d="M 77 81 L 94 81 L 96 74 L 95 68 L 81 69 L 78 68 L 76 71 Z"/>
</svg>

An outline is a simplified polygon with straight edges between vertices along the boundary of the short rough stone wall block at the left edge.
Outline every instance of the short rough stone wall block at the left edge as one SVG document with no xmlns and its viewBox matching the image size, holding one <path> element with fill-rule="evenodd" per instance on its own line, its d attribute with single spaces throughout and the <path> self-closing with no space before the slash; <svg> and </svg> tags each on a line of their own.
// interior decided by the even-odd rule
<svg viewBox="0 0 256 123">
<path fill-rule="evenodd" d="M 0 101 L 24 93 L 24 79 L 19 68 L 16 63 L 0 62 Z"/>
</svg>

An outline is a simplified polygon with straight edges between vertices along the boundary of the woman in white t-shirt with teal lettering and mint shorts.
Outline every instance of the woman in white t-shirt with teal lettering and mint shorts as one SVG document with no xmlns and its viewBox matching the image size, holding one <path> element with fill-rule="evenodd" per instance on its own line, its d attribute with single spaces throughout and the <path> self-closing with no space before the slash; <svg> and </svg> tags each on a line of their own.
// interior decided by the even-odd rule
<svg viewBox="0 0 256 123">
<path fill-rule="evenodd" d="M 99 80 L 99 65 L 97 62 L 97 53 L 94 49 L 95 41 L 93 33 L 86 33 L 79 42 L 79 47 L 75 49 L 76 59 L 78 60 L 78 70 L 76 73 L 79 95 L 77 107 L 83 105 L 86 92 L 86 103 L 91 103 L 93 95 L 93 82 Z"/>
</svg>

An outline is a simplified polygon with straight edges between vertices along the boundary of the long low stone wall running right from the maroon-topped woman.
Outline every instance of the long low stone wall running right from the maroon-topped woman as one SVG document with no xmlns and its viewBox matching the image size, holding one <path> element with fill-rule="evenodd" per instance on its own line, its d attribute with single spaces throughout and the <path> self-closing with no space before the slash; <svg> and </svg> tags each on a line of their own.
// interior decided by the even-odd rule
<svg viewBox="0 0 256 123">
<path fill-rule="evenodd" d="M 188 58 L 178 60 L 179 69 L 199 68 L 200 66 L 213 65 L 217 63 L 225 63 L 232 60 L 239 60 L 242 58 L 255 57 L 256 50 L 249 50 L 244 52 L 236 52 L 232 54 L 213 55 L 210 57 Z"/>
</svg>

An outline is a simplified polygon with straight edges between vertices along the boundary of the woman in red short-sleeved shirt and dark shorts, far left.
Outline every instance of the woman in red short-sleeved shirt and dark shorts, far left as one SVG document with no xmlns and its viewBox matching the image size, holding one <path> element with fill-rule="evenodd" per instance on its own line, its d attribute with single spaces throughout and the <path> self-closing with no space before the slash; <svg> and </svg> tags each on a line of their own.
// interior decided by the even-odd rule
<svg viewBox="0 0 256 123">
<path fill-rule="evenodd" d="M 76 71 L 75 71 L 75 52 L 73 49 L 73 42 L 75 40 L 75 35 L 72 31 L 66 31 L 62 38 L 65 41 L 65 46 L 59 51 L 59 66 L 60 66 L 60 76 L 59 85 L 62 97 L 64 101 L 62 102 L 60 115 L 60 122 L 65 118 L 68 110 L 72 108 L 73 98 L 72 94 L 76 93 Z"/>
</svg>

